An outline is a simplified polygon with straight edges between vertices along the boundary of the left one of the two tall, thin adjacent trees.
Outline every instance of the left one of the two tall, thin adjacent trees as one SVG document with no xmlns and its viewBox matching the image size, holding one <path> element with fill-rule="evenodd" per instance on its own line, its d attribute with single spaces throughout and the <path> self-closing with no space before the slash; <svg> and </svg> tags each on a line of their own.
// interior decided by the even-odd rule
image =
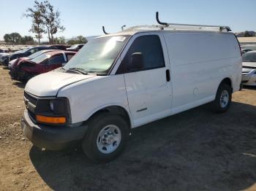
<svg viewBox="0 0 256 191">
<path fill-rule="evenodd" d="M 42 39 L 42 34 L 45 33 L 45 23 L 42 17 L 42 2 L 34 1 L 34 8 L 26 9 L 25 17 L 31 17 L 32 25 L 29 31 L 36 34 L 38 39 L 38 44 L 40 44 L 40 39 Z"/>
</svg>

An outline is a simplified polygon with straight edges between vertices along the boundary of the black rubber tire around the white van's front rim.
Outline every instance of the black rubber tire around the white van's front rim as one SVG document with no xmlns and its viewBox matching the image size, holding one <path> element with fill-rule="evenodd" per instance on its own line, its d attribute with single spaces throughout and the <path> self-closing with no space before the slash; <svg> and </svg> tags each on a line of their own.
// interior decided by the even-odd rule
<svg viewBox="0 0 256 191">
<path fill-rule="evenodd" d="M 82 141 L 83 152 L 94 163 L 107 163 L 121 154 L 129 138 L 129 127 L 123 117 L 113 114 L 99 114 L 89 121 L 89 129 Z M 102 153 L 97 147 L 99 133 L 107 125 L 116 125 L 121 131 L 121 141 L 113 152 Z"/>
</svg>

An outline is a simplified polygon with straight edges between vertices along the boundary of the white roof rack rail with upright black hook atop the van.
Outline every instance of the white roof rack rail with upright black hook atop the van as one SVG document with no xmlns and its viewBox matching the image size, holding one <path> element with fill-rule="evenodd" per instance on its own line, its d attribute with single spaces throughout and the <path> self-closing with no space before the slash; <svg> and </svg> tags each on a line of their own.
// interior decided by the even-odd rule
<svg viewBox="0 0 256 191">
<path fill-rule="evenodd" d="M 173 28 L 173 29 L 211 29 L 211 30 L 219 30 L 219 31 L 231 31 L 229 26 L 206 26 L 206 25 L 192 25 L 192 24 L 178 24 L 178 23 L 162 23 L 159 20 L 159 13 L 156 12 L 156 19 L 157 19 L 157 23 L 159 23 L 159 25 L 162 25 L 162 30 L 164 30 L 164 28 Z"/>
</svg>

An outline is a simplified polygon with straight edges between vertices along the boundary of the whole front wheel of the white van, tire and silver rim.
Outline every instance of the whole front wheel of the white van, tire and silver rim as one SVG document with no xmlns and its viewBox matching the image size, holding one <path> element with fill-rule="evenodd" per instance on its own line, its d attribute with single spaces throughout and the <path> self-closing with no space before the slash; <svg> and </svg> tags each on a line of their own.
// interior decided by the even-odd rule
<svg viewBox="0 0 256 191">
<path fill-rule="evenodd" d="M 89 130 L 82 142 L 83 152 L 97 163 L 115 159 L 124 150 L 129 127 L 123 117 L 101 114 L 89 122 Z"/>
</svg>

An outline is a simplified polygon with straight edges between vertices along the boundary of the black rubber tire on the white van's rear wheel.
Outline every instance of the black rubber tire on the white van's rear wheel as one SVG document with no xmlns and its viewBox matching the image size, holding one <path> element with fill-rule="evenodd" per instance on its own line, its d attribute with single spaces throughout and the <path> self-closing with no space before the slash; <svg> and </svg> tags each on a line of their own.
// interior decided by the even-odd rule
<svg viewBox="0 0 256 191">
<path fill-rule="evenodd" d="M 227 93 L 228 95 L 227 104 L 221 104 L 222 93 L 224 94 Z M 231 99 L 232 99 L 232 90 L 230 85 L 227 85 L 224 83 L 220 84 L 217 90 L 215 100 L 211 102 L 211 110 L 216 113 L 227 112 L 227 109 L 229 109 L 231 104 Z"/>
</svg>

